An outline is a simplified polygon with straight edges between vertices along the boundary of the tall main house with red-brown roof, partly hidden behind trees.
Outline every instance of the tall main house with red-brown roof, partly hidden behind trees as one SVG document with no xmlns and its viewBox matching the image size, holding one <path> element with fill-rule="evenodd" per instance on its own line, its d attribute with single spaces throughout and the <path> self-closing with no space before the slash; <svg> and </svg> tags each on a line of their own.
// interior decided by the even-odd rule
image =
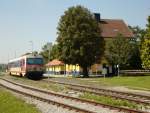
<svg viewBox="0 0 150 113">
<path fill-rule="evenodd" d="M 132 40 L 132 38 L 134 37 L 131 30 L 121 19 L 99 19 L 99 26 L 101 29 L 101 36 L 105 41 L 105 46 L 109 44 L 109 41 L 115 39 L 118 34 L 121 34 L 127 40 Z M 91 71 L 94 73 L 101 72 L 104 64 L 108 68 L 108 73 L 113 73 L 113 67 L 107 62 L 105 57 L 102 58 L 101 64 L 94 64 L 93 66 L 91 66 Z"/>
</svg>

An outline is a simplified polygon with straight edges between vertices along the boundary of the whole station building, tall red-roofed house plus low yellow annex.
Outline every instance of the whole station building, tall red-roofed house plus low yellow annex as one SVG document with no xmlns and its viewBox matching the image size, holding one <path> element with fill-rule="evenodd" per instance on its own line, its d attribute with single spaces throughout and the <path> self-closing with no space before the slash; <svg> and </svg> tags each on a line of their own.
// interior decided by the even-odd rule
<svg viewBox="0 0 150 113">
<path fill-rule="evenodd" d="M 118 34 L 121 34 L 123 37 L 127 39 L 133 38 L 133 33 L 128 28 L 128 26 L 125 24 L 125 22 L 121 19 L 101 19 L 100 14 L 95 14 L 96 20 L 99 22 L 100 30 L 101 30 L 101 37 L 104 38 L 105 46 L 107 46 L 108 42 L 113 40 L 118 36 Z M 102 58 L 101 64 L 94 64 L 89 69 L 90 73 L 101 73 L 103 69 L 103 65 L 106 65 L 108 68 L 108 73 L 112 73 L 112 66 L 109 65 L 105 57 Z M 82 69 L 78 65 L 69 65 L 64 64 L 62 61 L 59 61 L 57 59 L 49 62 L 46 64 L 46 69 L 50 73 L 55 74 L 70 74 L 74 71 L 79 73 Z"/>
</svg>

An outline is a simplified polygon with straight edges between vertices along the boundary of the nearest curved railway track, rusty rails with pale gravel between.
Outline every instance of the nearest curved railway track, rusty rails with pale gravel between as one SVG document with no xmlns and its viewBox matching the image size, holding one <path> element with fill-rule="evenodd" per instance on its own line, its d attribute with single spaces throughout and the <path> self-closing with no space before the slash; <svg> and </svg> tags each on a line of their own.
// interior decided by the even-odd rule
<svg viewBox="0 0 150 113">
<path fill-rule="evenodd" d="M 115 107 L 115 106 L 110 106 L 110 105 L 106 105 L 106 104 L 101 104 L 101 103 L 97 103 L 94 101 L 89 101 L 89 100 L 85 100 L 85 99 L 79 99 L 79 98 L 75 98 L 75 97 L 70 97 L 70 96 L 66 96 L 66 95 L 62 95 L 62 94 L 58 94 L 58 93 L 53 93 L 50 91 L 46 91 L 46 90 L 41 90 L 38 88 L 34 88 L 31 86 L 27 86 L 27 85 L 23 85 L 23 84 L 18 84 L 15 82 L 12 82 L 10 80 L 6 80 L 6 79 L 0 79 L 0 84 L 1 86 L 10 89 L 12 91 L 15 91 L 17 93 L 21 93 L 23 95 L 26 96 L 30 96 L 33 98 L 36 98 L 38 100 L 47 102 L 47 103 L 51 103 L 51 104 L 55 104 L 57 106 L 62 106 L 63 108 L 67 108 L 70 110 L 74 110 L 76 112 L 82 112 L 82 113 L 104 113 L 104 111 L 102 111 L 103 109 L 108 110 L 106 113 L 117 113 L 117 112 L 121 112 L 121 113 L 147 113 L 144 111 L 139 111 L 139 110 L 133 110 L 133 109 L 128 109 L 128 108 L 122 108 L 122 107 Z M 8 85 L 10 84 L 10 85 Z M 10 87 L 11 86 L 11 87 Z M 12 87 L 13 86 L 13 87 Z M 20 87 L 22 90 L 18 90 L 17 88 L 14 87 Z M 26 91 L 27 90 L 27 91 Z M 29 91 L 30 90 L 30 91 Z M 31 92 L 31 93 L 29 93 Z M 37 93 L 38 95 L 33 95 L 33 92 Z M 45 98 L 47 96 L 40 96 L 40 95 L 47 95 L 48 97 L 50 96 L 51 98 Z M 56 101 L 54 100 L 54 98 L 56 98 L 56 100 L 59 98 L 61 98 L 63 101 L 65 100 L 69 100 L 69 101 L 73 101 L 75 104 L 68 104 L 64 103 L 63 101 Z M 81 104 L 84 104 L 86 107 L 84 108 L 83 106 L 80 107 Z M 87 107 L 88 106 L 88 107 Z"/>
</svg>

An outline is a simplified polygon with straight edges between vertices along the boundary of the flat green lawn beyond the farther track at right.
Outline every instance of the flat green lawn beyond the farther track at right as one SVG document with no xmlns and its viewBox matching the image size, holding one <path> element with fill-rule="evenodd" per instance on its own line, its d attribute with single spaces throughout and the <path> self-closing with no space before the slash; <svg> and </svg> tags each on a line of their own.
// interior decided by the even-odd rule
<svg viewBox="0 0 150 113">
<path fill-rule="evenodd" d="M 150 76 L 80 78 L 81 81 L 105 86 L 125 86 L 132 89 L 150 90 Z"/>
</svg>

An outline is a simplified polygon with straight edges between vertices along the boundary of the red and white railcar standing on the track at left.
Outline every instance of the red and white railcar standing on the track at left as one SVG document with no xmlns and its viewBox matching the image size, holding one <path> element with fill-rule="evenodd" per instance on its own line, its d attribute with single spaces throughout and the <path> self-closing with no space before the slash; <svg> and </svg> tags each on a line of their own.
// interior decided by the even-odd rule
<svg viewBox="0 0 150 113">
<path fill-rule="evenodd" d="M 43 75 L 43 57 L 27 54 L 15 58 L 8 63 L 10 75 L 26 76 L 30 79 L 40 79 Z"/>
</svg>

